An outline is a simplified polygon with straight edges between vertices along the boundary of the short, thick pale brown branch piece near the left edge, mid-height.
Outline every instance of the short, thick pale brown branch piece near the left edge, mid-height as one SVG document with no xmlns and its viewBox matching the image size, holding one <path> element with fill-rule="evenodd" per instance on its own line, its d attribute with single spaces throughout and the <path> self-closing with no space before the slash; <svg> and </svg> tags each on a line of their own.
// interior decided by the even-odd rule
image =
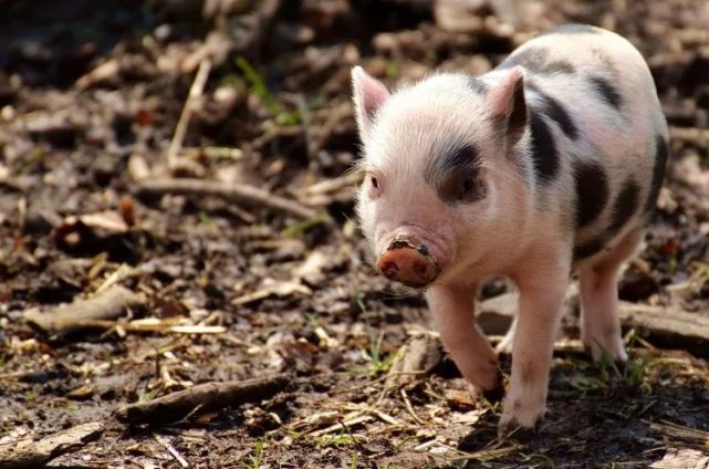
<svg viewBox="0 0 709 469">
<path fill-rule="evenodd" d="M 38 309 L 24 312 L 24 319 L 37 324 L 45 332 L 66 333 L 86 327 L 91 321 L 116 319 L 129 308 L 145 305 L 145 300 L 138 293 L 122 285 L 113 285 L 96 296 L 87 300 L 76 300 L 70 304 L 55 308 L 53 311 L 41 312 Z"/>
</svg>

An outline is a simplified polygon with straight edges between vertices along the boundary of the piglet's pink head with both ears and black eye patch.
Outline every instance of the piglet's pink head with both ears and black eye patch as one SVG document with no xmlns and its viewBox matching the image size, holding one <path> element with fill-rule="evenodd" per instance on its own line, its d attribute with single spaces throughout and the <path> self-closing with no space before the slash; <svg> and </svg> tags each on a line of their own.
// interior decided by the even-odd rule
<svg viewBox="0 0 709 469">
<path fill-rule="evenodd" d="M 500 248 L 522 196 L 515 147 L 528 111 L 521 69 L 494 73 L 493 84 L 438 74 L 389 93 L 353 69 L 366 175 L 357 213 L 388 279 L 425 288 Z"/>
</svg>

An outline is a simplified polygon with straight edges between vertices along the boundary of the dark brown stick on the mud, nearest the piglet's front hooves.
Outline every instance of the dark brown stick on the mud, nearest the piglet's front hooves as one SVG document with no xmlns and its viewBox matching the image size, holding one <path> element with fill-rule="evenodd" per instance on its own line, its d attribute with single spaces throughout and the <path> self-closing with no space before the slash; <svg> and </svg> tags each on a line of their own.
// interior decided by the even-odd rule
<svg viewBox="0 0 709 469">
<path fill-rule="evenodd" d="M 195 413 L 213 411 L 223 407 L 261 400 L 288 385 L 284 375 L 253 378 L 243 382 L 206 383 L 143 403 L 118 408 L 114 417 L 124 424 L 159 425 L 178 421 Z"/>
</svg>

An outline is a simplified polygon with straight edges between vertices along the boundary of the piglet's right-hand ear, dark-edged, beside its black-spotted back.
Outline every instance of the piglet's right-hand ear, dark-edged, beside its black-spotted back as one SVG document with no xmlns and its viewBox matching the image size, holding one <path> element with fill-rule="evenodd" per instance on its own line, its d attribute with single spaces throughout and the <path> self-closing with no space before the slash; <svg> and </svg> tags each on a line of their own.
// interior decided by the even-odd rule
<svg viewBox="0 0 709 469">
<path fill-rule="evenodd" d="M 488 107 L 503 125 L 508 144 L 514 145 L 524 134 L 528 110 L 524 101 L 524 75 L 522 67 L 515 66 L 496 84 L 488 94 Z"/>
</svg>

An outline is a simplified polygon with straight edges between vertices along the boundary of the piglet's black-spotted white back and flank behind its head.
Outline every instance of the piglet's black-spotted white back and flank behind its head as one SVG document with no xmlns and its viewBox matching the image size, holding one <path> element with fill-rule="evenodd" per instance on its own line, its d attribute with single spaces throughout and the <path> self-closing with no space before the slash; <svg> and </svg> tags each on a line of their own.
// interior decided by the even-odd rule
<svg viewBox="0 0 709 469">
<path fill-rule="evenodd" d="M 567 218 L 582 260 L 655 207 L 668 132 L 653 77 L 627 40 L 581 24 L 524 43 L 481 79 L 494 82 L 514 66 L 524 69 L 530 108 L 528 177 L 541 206 L 573 195 Z"/>
</svg>

